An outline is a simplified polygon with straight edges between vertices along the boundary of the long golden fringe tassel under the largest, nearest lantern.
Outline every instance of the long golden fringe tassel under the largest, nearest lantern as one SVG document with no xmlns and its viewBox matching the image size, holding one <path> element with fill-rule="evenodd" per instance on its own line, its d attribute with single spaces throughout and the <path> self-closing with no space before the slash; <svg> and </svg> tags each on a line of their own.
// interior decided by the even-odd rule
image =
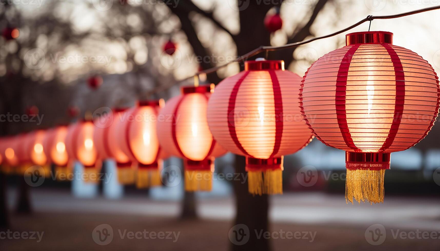
<svg viewBox="0 0 440 251">
<path fill-rule="evenodd" d="M 384 177 L 385 169 L 347 169 L 345 181 L 345 202 L 353 204 L 353 198 L 360 204 L 362 200 L 370 204 L 384 202 Z"/>
</svg>

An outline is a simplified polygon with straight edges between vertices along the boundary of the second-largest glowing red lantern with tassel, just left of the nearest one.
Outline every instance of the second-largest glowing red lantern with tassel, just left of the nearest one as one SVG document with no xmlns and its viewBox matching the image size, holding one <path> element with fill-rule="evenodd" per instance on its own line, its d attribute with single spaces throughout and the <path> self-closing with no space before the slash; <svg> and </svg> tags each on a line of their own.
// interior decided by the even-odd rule
<svg viewBox="0 0 440 251">
<path fill-rule="evenodd" d="M 296 102 L 300 84 L 283 61 L 247 61 L 209 99 L 209 129 L 225 149 L 246 156 L 249 193 L 282 193 L 283 156 L 312 140 Z"/>
</svg>

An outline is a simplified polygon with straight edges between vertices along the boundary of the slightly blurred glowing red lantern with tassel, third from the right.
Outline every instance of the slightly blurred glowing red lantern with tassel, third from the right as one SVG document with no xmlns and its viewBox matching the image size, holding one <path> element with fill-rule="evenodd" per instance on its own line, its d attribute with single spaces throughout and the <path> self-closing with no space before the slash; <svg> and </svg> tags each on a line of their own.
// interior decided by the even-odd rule
<svg viewBox="0 0 440 251">
<path fill-rule="evenodd" d="M 182 87 L 159 112 L 158 138 L 170 155 L 185 160 L 185 189 L 210 191 L 214 158 L 226 153 L 209 131 L 206 108 L 213 88 Z"/>
</svg>

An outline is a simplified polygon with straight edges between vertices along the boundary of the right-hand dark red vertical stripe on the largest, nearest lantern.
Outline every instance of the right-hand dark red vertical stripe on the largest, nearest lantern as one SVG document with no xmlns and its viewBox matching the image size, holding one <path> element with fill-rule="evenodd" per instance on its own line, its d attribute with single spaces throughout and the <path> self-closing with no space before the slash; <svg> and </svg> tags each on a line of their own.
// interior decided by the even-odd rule
<svg viewBox="0 0 440 251">
<path fill-rule="evenodd" d="M 392 118 L 391 128 L 389 129 L 388 137 L 382 145 L 379 152 L 388 149 L 394 138 L 396 138 L 397 131 L 399 130 L 400 122 L 402 121 L 403 105 L 405 103 L 405 74 L 403 73 L 402 62 L 400 62 L 399 55 L 396 51 L 389 46 L 384 45 L 386 51 L 391 56 L 391 62 L 394 66 L 394 73 L 396 75 L 396 104 L 394 105 L 394 116 Z"/>
</svg>

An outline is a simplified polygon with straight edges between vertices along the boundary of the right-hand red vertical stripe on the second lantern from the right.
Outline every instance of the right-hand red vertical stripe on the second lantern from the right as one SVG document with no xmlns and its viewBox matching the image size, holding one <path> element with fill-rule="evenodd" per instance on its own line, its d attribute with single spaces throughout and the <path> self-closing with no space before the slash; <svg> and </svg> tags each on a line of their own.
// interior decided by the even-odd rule
<svg viewBox="0 0 440 251">
<path fill-rule="evenodd" d="M 275 144 L 271 157 L 278 153 L 279 146 L 281 146 L 283 117 L 282 117 L 282 96 L 281 87 L 279 86 L 278 78 L 274 70 L 270 70 L 269 74 L 272 80 L 272 88 L 274 91 L 274 105 L 275 105 Z"/>
</svg>

